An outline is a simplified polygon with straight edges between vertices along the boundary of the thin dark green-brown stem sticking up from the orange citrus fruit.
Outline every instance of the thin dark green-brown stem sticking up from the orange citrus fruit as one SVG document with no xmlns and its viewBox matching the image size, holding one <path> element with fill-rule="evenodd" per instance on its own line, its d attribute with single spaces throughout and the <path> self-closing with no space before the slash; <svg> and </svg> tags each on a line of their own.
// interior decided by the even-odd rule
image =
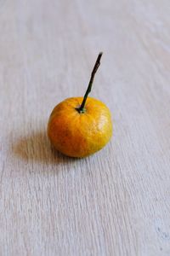
<svg viewBox="0 0 170 256">
<path fill-rule="evenodd" d="M 89 83 L 88 83 L 88 89 L 86 90 L 86 93 L 85 93 L 85 95 L 83 97 L 82 104 L 81 104 L 80 108 L 76 108 L 79 113 L 85 113 L 85 111 L 86 111 L 84 106 L 85 106 L 86 100 L 88 98 L 88 94 L 92 90 L 92 85 L 93 85 L 93 82 L 94 82 L 94 76 L 95 76 L 95 73 L 97 72 L 98 67 L 100 65 L 100 59 L 101 59 L 102 55 L 103 55 L 103 53 L 100 52 L 99 55 L 98 55 L 98 58 L 97 58 L 97 60 L 95 62 L 94 69 L 93 69 L 93 71 L 91 73 L 91 77 L 90 77 L 90 80 L 89 80 Z"/>
</svg>

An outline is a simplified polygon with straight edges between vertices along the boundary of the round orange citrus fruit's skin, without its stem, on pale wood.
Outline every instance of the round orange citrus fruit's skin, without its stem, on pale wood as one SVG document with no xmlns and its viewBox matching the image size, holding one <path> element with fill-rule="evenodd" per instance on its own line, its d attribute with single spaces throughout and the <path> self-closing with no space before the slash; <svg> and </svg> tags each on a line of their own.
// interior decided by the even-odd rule
<svg viewBox="0 0 170 256">
<path fill-rule="evenodd" d="M 48 137 L 54 148 L 71 157 L 94 154 L 112 135 L 111 112 L 103 102 L 88 97 L 85 113 L 78 113 L 82 97 L 60 102 L 48 121 Z"/>
</svg>

